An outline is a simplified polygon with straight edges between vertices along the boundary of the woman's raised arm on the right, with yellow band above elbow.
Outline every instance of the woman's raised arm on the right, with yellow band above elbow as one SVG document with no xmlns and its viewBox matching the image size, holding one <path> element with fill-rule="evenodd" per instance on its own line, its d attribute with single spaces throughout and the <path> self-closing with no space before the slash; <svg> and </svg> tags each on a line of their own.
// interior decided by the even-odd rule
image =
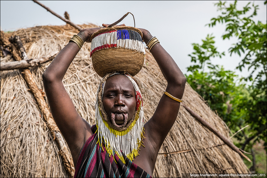
<svg viewBox="0 0 267 178">
<path fill-rule="evenodd" d="M 140 30 L 143 33 L 144 42 L 147 44 L 153 36 L 145 29 Z M 157 41 L 154 39 L 152 40 L 155 42 Z M 157 61 L 163 76 L 168 82 L 166 92 L 176 98 L 182 99 L 186 83 L 186 78 L 182 71 L 179 69 L 169 53 L 163 49 L 160 43 L 156 43 L 153 47 L 150 45 L 150 52 Z M 178 115 L 179 107 L 179 101 L 163 94 L 154 115 L 145 124 L 144 128 L 146 130 L 146 134 L 149 134 L 148 137 L 152 138 L 150 142 L 155 150 L 159 151 L 161 144 L 173 126 Z"/>
</svg>

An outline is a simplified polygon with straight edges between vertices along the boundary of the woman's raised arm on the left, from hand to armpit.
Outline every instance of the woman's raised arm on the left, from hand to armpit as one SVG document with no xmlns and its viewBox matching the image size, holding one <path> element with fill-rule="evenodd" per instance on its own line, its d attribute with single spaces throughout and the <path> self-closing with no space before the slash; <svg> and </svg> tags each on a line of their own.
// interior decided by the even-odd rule
<svg viewBox="0 0 267 178">
<path fill-rule="evenodd" d="M 98 30 L 99 28 L 83 29 L 77 35 L 83 42 L 90 42 L 90 36 Z M 76 166 L 82 146 L 93 134 L 91 126 L 80 117 L 62 83 L 69 65 L 79 50 L 77 43 L 70 41 L 42 75 L 53 118 L 69 146 L 74 166 Z"/>
</svg>

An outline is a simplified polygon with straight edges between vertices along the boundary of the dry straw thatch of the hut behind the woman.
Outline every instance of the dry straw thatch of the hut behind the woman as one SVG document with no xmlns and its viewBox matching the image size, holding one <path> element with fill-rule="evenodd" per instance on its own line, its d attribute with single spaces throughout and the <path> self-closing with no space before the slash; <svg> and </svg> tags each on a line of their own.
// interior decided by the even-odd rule
<svg viewBox="0 0 267 178">
<path fill-rule="evenodd" d="M 81 27 L 95 26 L 86 24 Z M 61 50 L 77 33 L 76 29 L 66 25 L 38 26 L 6 35 L 20 36 L 28 57 L 40 58 Z M 7 61 L 12 61 L 11 55 L 3 57 L 1 53 L 1 63 Z M 49 64 L 30 69 L 38 88 L 43 91 L 42 73 Z M 150 95 L 144 100 L 147 121 L 167 84 L 148 51 L 146 63 L 136 78 Z M 94 104 L 100 80 L 90 59 L 90 43 L 86 43 L 71 63 L 63 83 L 77 111 L 90 125 L 94 124 Z M 183 104 L 229 137 L 227 125 L 188 84 L 182 99 Z M 42 117 L 20 70 L 1 71 L 1 177 L 68 177 L 58 147 Z M 195 120 L 184 107 L 180 108 L 159 153 L 165 154 L 158 155 L 153 177 L 182 177 L 182 173 L 249 172 L 241 157 Z"/>
</svg>

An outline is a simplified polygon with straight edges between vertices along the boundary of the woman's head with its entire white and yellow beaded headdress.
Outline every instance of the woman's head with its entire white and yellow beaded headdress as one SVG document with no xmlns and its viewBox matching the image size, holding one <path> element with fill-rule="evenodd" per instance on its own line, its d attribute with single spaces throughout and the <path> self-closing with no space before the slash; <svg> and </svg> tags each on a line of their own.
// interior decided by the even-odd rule
<svg viewBox="0 0 267 178">
<path fill-rule="evenodd" d="M 100 82 L 96 100 L 99 143 L 114 150 L 121 160 L 122 150 L 130 160 L 138 155 L 144 131 L 141 85 L 128 74 L 107 74 Z M 127 144 L 122 144 L 127 141 Z M 112 151 L 109 152 L 112 154 Z"/>
</svg>

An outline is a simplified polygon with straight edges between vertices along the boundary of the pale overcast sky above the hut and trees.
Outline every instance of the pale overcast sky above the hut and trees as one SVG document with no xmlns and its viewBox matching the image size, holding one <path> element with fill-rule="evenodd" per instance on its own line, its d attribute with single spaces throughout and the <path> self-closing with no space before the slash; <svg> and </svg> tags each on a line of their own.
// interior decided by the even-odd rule
<svg viewBox="0 0 267 178">
<path fill-rule="evenodd" d="M 137 28 L 145 28 L 152 36 L 156 36 L 160 44 L 174 58 L 182 72 L 187 73 L 186 67 L 191 65 L 188 54 L 193 52 L 192 43 L 201 43 L 207 34 L 215 36 L 215 46 L 220 52 L 227 51 L 236 41 L 222 40 L 225 26 L 205 26 L 211 18 L 220 13 L 214 3 L 218 1 L 39 1 L 58 15 L 64 17 L 67 11 L 70 20 L 76 24 L 102 23 L 111 24 L 119 20 L 127 12 L 134 15 Z M 233 2 L 233 1 L 227 1 Z M 259 5 L 255 21 L 266 23 L 266 5 L 264 1 L 238 1 L 241 9 L 248 2 Z M 13 31 L 41 25 L 64 25 L 57 18 L 39 4 L 33 1 L 2 1 L 1 0 L 1 28 Z M 134 20 L 129 14 L 121 23 L 134 26 Z M 240 73 L 235 69 L 241 58 L 238 55 L 226 55 L 222 59 L 214 59 L 214 64 L 220 64 L 227 70 L 236 71 L 246 76 L 248 72 Z"/>
</svg>

